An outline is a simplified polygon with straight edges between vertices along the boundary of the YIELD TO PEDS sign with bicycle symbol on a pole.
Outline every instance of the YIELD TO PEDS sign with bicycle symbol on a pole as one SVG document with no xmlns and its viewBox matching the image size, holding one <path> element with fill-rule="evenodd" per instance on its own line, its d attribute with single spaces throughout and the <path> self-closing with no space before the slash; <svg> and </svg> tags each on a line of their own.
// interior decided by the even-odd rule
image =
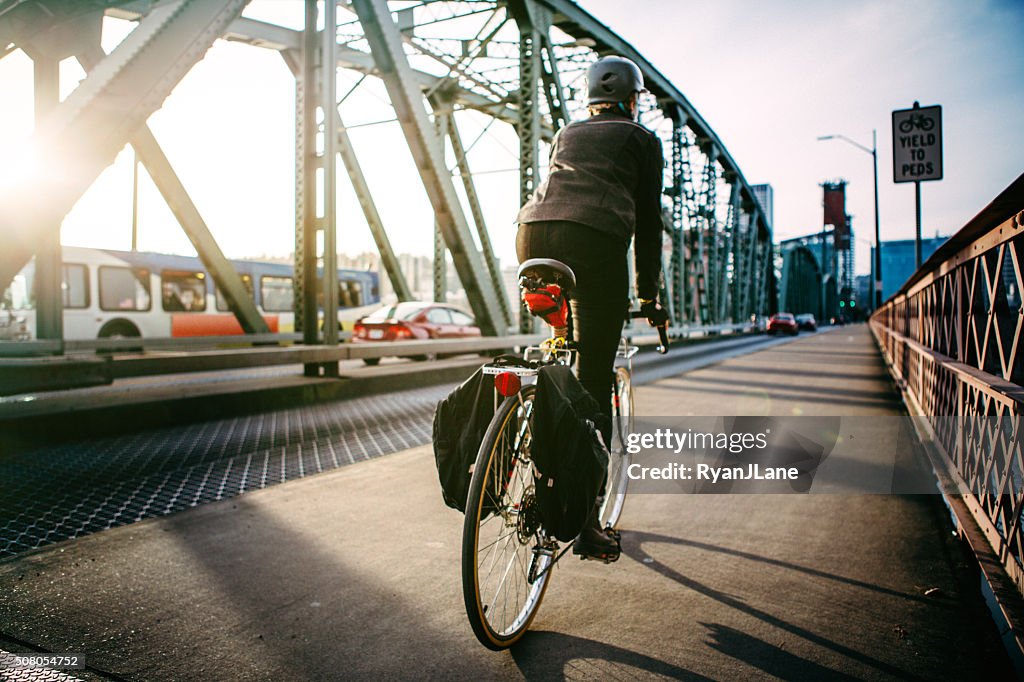
<svg viewBox="0 0 1024 682">
<path fill-rule="evenodd" d="M 942 179 L 942 108 L 893 112 L 893 181 Z"/>
</svg>

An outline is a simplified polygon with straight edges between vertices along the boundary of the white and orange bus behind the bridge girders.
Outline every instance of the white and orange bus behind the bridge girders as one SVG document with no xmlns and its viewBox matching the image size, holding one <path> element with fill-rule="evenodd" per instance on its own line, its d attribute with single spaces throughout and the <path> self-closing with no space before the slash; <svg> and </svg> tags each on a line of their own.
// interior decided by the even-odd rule
<svg viewBox="0 0 1024 682">
<path fill-rule="evenodd" d="M 242 334 L 213 279 L 194 256 L 63 247 L 63 336 L 173 338 Z M 288 263 L 232 260 L 271 333 L 295 330 L 294 268 Z M 35 337 L 35 266 L 14 278 L 0 303 L 0 339 Z M 338 321 L 354 321 L 380 303 L 370 270 L 338 270 Z"/>
</svg>

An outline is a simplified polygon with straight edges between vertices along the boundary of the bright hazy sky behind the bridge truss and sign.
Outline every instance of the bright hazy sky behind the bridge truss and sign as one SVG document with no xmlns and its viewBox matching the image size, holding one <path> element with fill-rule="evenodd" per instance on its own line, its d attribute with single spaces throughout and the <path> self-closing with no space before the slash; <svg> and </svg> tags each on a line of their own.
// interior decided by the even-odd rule
<svg viewBox="0 0 1024 682">
<path fill-rule="evenodd" d="M 986 0 L 775 1 L 584 0 L 684 93 L 751 183 L 774 188 L 776 240 L 822 222 L 821 182 L 845 179 L 857 238 L 857 270 L 873 239 L 870 146 L 878 131 L 883 240 L 914 231 L 913 185 L 892 181 L 891 112 L 943 108 L 941 181 L 922 187 L 926 237 L 963 226 L 1024 171 L 1024 2 Z M 247 14 L 297 26 L 297 0 L 255 0 Z M 131 28 L 108 19 L 104 47 Z M 61 66 L 66 95 L 83 74 Z M 26 161 L 32 67 L 0 59 L 0 183 Z M 354 77 L 343 74 L 339 91 Z M 383 88 L 371 81 L 342 109 L 378 208 L 399 252 L 429 254 L 429 203 Z M 459 119 L 467 143 L 486 120 Z M 379 123 L 384 122 L 384 123 Z M 286 256 L 294 240 L 294 85 L 270 50 L 218 41 L 150 120 L 200 212 L 229 257 Z M 496 251 L 514 260 L 516 139 L 493 126 L 470 154 Z M 127 249 L 131 152 L 96 180 L 66 218 L 67 245 Z M 373 249 L 355 197 L 339 184 L 339 250 Z M 139 248 L 193 253 L 142 173 Z"/>
</svg>

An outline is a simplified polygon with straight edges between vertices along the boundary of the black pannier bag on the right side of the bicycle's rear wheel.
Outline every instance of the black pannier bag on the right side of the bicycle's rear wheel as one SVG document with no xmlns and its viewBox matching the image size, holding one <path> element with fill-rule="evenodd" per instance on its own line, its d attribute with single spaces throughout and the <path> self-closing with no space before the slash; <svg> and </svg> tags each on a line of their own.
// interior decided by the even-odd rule
<svg viewBox="0 0 1024 682">
<path fill-rule="evenodd" d="M 583 530 L 604 485 L 608 453 L 595 427 L 599 415 L 597 400 L 567 367 L 541 369 L 530 457 L 540 474 L 541 520 L 563 542 Z"/>
</svg>

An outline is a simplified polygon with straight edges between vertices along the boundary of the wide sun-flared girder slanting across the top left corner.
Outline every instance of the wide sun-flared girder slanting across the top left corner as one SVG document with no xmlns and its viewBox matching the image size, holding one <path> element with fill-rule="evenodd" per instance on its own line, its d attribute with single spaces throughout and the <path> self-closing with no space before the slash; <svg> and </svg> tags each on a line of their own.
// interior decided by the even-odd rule
<svg viewBox="0 0 1024 682">
<path fill-rule="evenodd" d="M 178 0 L 155 7 L 46 117 L 35 134 L 43 171 L 0 201 L 6 286 L 247 0 Z"/>
</svg>

